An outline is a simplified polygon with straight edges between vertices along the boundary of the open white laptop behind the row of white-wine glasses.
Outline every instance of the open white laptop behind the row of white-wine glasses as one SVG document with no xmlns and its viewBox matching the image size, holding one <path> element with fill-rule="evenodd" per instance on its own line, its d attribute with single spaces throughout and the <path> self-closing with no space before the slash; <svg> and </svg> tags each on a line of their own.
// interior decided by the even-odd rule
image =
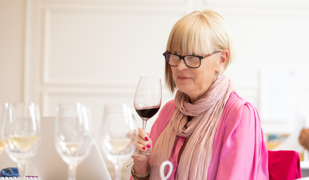
<svg viewBox="0 0 309 180">
<path fill-rule="evenodd" d="M 68 165 L 58 155 L 54 143 L 55 117 L 41 118 L 42 144 L 33 158 L 33 164 L 41 180 L 67 180 Z M 97 144 L 89 156 L 77 168 L 77 180 L 112 180 Z"/>
</svg>

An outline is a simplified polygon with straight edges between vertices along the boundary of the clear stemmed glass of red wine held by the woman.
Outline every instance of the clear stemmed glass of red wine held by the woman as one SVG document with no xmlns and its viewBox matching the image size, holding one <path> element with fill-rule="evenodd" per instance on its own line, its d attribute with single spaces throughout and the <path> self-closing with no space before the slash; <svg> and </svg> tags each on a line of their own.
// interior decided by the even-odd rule
<svg viewBox="0 0 309 180">
<path fill-rule="evenodd" d="M 134 108 L 143 120 L 143 130 L 145 131 L 147 120 L 154 116 L 161 106 L 161 79 L 151 77 L 140 77 L 134 96 Z M 152 155 L 148 150 L 136 153 Z"/>
</svg>

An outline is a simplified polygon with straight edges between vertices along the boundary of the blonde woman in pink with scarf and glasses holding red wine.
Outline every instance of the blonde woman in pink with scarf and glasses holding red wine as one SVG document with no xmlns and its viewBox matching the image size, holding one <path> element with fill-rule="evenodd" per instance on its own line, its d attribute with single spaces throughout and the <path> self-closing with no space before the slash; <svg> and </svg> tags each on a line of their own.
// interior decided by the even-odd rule
<svg viewBox="0 0 309 180">
<path fill-rule="evenodd" d="M 163 55 L 166 85 L 178 90 L 149 136 L 140 129 L 137 148 L 154 155 L 133 155 L 133 178 L 159 179 L 161 163 L 169 160 L 169 179 L 269 179 L 256 108 L 223 74 L 235 52 L 222 15 L 205 9 L 180 19 Z"/>
</svg>

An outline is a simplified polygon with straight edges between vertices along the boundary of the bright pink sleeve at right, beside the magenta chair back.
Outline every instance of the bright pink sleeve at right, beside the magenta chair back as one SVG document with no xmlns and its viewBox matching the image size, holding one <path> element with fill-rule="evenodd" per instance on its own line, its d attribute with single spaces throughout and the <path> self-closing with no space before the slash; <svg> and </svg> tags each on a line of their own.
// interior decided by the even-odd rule
<svg viewBox="0 0 309 180">
<path fill-rule="evenodd" d="M 265 167 L 259 167 L 267 164 L 268 156 L 255 107 L 245 103 L 238 112 L 231 113 L 231 124 L 226 126 L 223 137 L 216 180 L 268 179 L 268 171 L 263 172 Z"/>
</svg>

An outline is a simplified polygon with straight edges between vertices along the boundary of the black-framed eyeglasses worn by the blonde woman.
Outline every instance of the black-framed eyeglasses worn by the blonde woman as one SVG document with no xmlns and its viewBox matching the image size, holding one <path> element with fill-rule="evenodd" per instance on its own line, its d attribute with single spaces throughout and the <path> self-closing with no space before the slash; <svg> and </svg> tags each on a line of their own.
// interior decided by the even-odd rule
<svg viewBox="0 0 309 180">
<path fill-rule="evenodd" d="M 221 52 L 221 51 L 214 51 L 205 56 L 179 56 L 177 54 L 167 53 L 166 51 L 163 53 L 163 56 L 165 57 L 165 61 L 167 62 L 167 64 L 170 66 L 178 66 L 180 60 L 183 59 L 184 63 L 189 68 L 198 68 L 201 65 L 201 59 L 211 56 L 217 52 Z"/>
</svg>

